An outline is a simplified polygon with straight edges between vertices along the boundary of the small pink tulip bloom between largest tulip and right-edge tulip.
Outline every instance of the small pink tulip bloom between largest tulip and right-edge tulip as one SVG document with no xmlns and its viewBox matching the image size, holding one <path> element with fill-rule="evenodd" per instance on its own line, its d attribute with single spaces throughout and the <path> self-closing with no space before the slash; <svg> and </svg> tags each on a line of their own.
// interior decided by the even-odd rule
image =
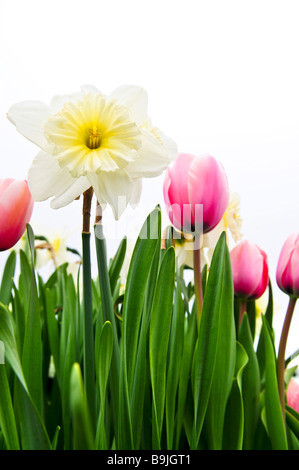
<svg viewBox="0 0 299 470">
<path fill-rule="evenodd" d="M 266 253 L 254 243 L 243 240 L 230 252 L 234 291 L 243 299 L 258 299 L 269 283 Z"/>
</svg>

